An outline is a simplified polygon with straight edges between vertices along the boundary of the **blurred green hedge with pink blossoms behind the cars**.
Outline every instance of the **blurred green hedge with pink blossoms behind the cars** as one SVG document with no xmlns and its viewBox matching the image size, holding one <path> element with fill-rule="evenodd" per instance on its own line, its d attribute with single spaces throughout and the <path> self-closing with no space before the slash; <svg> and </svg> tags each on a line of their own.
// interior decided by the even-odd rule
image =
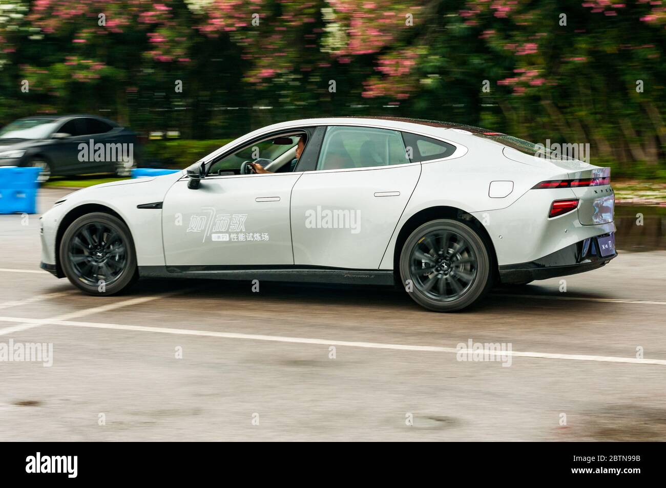
<svg viewBox="0 0 666 488">
<path fill-rule="evenodd" d="M 178 130 L 148 152 L 189 158 L 272 122 L 396 115 L 666 180 L 665 29 L 661 0 L 0 0 L 0 122 L 93 113 Z"/>
</svg>

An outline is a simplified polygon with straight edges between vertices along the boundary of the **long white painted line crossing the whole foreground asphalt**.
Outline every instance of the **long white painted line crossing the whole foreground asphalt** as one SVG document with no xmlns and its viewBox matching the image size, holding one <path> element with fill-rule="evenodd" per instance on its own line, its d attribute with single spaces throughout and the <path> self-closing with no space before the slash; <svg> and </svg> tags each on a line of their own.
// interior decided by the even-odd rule
<svg viewBox="0 0 666 488">
<path fill-rule="evenodd" d="M 19 322 L 13 317 L 0 317 L 0 321 Z M 30 320 L 30 319 L 28 319 Z M 39 320 L 39 319 L 32 319 Z M 443 348 L 440 346 L 414 346 L 411 344 L 384 344 L 380 342 L 351 342 L 339 341 L 328 339 L 311 339 L 300 337 L 284 337 L 284 336 L 264 336 L 258 334 L 238 334 L 236 332 L 213 332 L 208 330 L 191 330 L 191 329 L 174 329 L 167 327 L 146 327 L 146 326 L 125 326 L 122 324 L 100 324 L 98 322 L 78 322 L 72 320 L 53 320 L 53 325 L 58 326 L 73 326 L 73 327 L 86 327 L 94 329 L 112 329 L 112 330 L 128 330 L 133 332 L 159 332 L 163 334 L 179 334 L 183 336 L 204 336 L 204 337 L 217 337 L 225 339 L 246 339 L 257 341 L 271 341 L 271 342 L 291 342 L 296 344 L 318 344 L 321 346 L 347 346 L 351 348 L 368 348 L 368 349 L 389 349 L 399 351 L 420 351 L 420 352 L 448 352 L 454 354 L 489 354 L 491 356 L 515 356 L 518 358 L 540 358 L 551 360 L 569 360 L 569 361 L 596 361 L 607 363 L 631 363 L 631 364 L 658 364 L 666 366 L 666 360 L 651 360 L 651 359 L 638 359 L 638 358 L 620 358 L 617 356 L 590 356 L 587 354 L 553 354 L 548 352 L 519 352 L 519 351 L 505 351 L 499 352 L 495 350 L 468 350 L 458 348 Z"/>
</svg>

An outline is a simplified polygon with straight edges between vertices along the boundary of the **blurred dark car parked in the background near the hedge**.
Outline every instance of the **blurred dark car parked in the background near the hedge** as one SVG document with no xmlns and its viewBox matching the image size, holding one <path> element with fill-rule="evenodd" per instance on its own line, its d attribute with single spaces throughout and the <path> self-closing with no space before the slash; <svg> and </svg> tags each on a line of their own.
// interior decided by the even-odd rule
<svg viewBox="0 0 666 488">
<path fill-rule="evenodd" d="M 136 142 L 135 132 L 102 117 L 27 117 L 0 129 L 0 166 L 39 166 L 39 182 L 90 173 L 130 176 Z"/>
</svg>

